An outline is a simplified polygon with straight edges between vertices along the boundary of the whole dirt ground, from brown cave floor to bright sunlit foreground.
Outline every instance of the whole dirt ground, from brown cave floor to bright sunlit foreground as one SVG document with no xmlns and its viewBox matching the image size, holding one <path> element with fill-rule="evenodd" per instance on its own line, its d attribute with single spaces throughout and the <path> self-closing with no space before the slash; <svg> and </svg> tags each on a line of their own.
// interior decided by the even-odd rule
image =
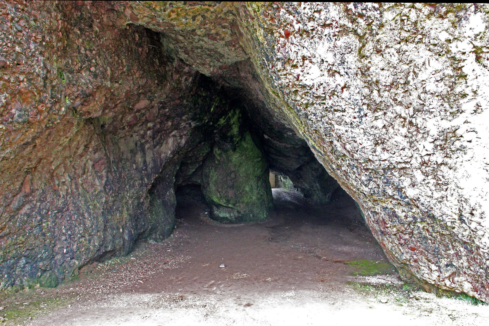
<svg viewBox="0 0 489 326">
<path fill-rule="evenodd" d="M 349 196 L 314 207 L 273 190 L 262 223 L 180 202 L 177 229 L 76 281 L 2 298 L 10 325 L 489 325 L 489 306 L 400 281 Z M 225 267 L 220 267 L 220 265 Z"/>
</svg>

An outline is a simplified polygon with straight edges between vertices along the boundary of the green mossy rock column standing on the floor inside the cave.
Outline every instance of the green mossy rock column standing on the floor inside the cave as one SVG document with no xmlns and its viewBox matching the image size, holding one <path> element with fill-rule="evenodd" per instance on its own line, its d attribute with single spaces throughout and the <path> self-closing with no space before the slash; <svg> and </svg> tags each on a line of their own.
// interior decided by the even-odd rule
<svg viewBox="0 0 489 326">
<path fill-rule="evenodd" d="M 221 222 L 264 220 L 272 208 L 268 168 L 249 132 L 232 147 L 214 147 L 205 161 L 202 191 Z"/>
</svg>

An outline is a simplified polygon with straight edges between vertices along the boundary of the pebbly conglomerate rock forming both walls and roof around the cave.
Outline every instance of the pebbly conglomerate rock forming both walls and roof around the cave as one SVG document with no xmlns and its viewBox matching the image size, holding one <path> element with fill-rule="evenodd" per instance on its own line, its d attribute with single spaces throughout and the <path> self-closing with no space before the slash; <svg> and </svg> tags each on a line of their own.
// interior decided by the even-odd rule
<svg viewBox="0 0 489 326">
<path fill-rule="evenodd" d="M 266 164 L 322 203 L 339 183 L 402 275 L 489 300 L 488 12 L 0 1 L 1 286 L 164 239 L 175 186 L 205 193 L 245 142 L 254 180 Z"/>
</svg>

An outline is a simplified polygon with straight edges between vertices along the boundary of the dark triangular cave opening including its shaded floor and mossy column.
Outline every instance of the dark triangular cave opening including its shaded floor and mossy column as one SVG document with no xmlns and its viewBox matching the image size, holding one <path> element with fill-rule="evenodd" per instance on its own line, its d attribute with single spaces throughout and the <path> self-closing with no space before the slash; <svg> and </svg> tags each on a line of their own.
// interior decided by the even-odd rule
<svg viewBox="0 0 489 326">
<path fill-rule="evenodd" d="M 178 282 L 161 286 L 259 295 L 392 273 L 355 200 L 306 141 L 242 90 L 224 93 L 221 123 L 202 133 L 175 177 L 169 241 L 192 259 L 178 275 L 168 272 Z M 245 218 L 237 217 L 241 212 Z"/>
</svg>

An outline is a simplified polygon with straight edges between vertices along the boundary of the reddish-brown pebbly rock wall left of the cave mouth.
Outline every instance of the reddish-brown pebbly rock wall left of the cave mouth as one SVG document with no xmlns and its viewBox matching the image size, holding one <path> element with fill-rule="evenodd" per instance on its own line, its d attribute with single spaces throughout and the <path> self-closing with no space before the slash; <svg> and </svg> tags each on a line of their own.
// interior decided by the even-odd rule
<svg viewBox="0 0 489 326">
<path fill-rule="evenodd" d="M 228 110 L 216 87 L 112 3 L 0 9 L 1 288 L 167 237 L 180 162 Z"/>
</svg>

